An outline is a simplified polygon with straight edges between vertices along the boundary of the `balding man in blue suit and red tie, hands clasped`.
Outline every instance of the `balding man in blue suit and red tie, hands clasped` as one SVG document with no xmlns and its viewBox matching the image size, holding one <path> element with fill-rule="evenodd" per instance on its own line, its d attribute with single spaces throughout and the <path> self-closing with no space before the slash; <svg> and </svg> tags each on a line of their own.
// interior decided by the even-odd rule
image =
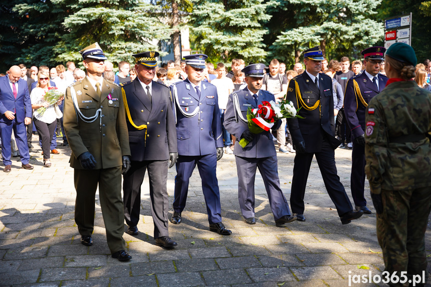
<svg viewBox="0 0 431 287">
<path fill-rule="evenodd" d="M 21 69 L 18 66 L 11 66 L 9 73 L 0 78 L 0 137 L 4 172 L 10 172 L 12 165 L 10 161 L 12 130 L 21 158 L 21 167 L 33 169 L 28 163 L 30 154 L 25 130 L 25 125 L 31 122 L 31 101 L 27 83 L 20 77 Z"/>
</svg>

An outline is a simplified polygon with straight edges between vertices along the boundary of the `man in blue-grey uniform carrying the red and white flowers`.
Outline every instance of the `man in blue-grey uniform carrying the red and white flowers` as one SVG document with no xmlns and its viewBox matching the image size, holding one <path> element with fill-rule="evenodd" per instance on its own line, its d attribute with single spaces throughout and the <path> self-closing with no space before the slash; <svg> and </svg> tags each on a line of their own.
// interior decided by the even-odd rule
<svg viewBox="0 0 431 287">
<path fill-rule="evenodd" d="M 255 224 L 254 180 L 256 167 L 262 175 L 268 194 L 271 211 L 276 226 L 296 220 L 290 215 L 289 205 L 280 188 L 278 178 L 277 152 L 268 132 L 253 134 L 248 128 L 247 110 L 257 108 L 263 101 L 275 101 L 274 95 L 261 90 L 265 64 L 251 64 L 241 71 L 245 74 L 247 87 L 229 95 L 224 126 L 237 141 L 246 139 L 249 144 L 244 148 L 235 145 L 234 155 L 238 173 L 238 199 L 242 216 L 248 224 Z M 281 120 L 276 121 L 272 129 L 278 129 Z"/>
</svg>

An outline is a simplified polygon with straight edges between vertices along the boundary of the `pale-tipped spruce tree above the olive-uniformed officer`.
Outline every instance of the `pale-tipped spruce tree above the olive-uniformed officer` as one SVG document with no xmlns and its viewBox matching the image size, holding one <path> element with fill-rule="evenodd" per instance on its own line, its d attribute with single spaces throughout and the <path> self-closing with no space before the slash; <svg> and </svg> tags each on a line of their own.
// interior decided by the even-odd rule
<svg viewBox="0 0 431 287">
<path fill-rule="evenodd" d="M 144 0 L 77 0 L 68 7 L 74 11 L 63 22 L 68 32 L 54 48 L 62 62 L 79 60 L 78 51 L 93 42 L 110 61 L 132 62 L 133 53 L 157 50 L 157 40 L 171 34 L 167 25 L 151 16 L 154 6 Z"/>
</svg>

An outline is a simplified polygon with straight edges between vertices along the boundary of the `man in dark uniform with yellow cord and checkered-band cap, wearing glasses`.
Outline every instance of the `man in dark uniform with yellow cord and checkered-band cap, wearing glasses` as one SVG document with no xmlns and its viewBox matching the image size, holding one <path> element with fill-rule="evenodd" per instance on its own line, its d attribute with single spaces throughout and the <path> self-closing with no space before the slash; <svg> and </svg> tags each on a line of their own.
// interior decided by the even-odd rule
<svg viewBox="0 0 431 287">
<path fill-rule="evenodd" d="M 127 233 L 137 235 L 141 185 L 148 170 L 154 239 L 164 247 L 175 247 L 169 238 L 169 200 L 166 188 L 169 168 L 177 160 L 177 136 L 168 87 L 153 81 L 158 52 L 134 54 L 137 78 L 121 85 L 127 116 L 131 168 L 123 175 L 124 218 Z"/>
</svg>

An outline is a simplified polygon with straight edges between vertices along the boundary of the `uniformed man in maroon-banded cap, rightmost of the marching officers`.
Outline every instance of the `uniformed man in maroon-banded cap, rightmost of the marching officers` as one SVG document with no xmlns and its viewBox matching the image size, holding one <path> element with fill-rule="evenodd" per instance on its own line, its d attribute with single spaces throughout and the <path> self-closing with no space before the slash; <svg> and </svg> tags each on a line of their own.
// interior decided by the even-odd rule
<svg viewBox="0 0 431 287">
<path fill-rule="evenodd" d="M 371 214 L 364 197 L 365 184 L 365 110 L 371 99 L 381 92 L 388 78 L 380 74 L 380 66 L 385 60 L 384 47 L 370 47 L 362 51 L 365 71 L 349 79 L 344 94 L 344 112 L 352 131 L 352 173 L 350 186 L 355 209 Z"/>
</svg>

